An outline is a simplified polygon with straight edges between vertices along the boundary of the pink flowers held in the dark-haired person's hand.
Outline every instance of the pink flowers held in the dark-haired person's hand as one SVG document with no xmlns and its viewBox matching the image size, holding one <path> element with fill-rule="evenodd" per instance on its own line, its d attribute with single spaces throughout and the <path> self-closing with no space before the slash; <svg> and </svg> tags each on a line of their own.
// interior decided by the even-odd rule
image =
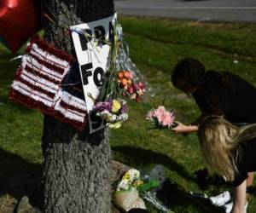
<svg viewBox="0 0 256 213">
<path fill-rule="evenodd" d="M 148 111 L 147 120 L 152 121 L 157 128 L 173 128 L 176 126 L 175 115 L 173 111 L 167 111 L 165 107 L 160 106 L 157 109 Z"/>
</svg>

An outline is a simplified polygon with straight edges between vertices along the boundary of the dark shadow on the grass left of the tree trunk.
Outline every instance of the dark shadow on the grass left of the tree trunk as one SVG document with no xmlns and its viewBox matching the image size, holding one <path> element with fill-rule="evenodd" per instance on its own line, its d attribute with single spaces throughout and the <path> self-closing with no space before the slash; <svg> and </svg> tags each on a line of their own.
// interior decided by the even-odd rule
<svg viewBox="0 0 256 213">
<path fill-rule="evenodd" d="M 27 162 L 20 156 L 0 148 L 0 197 L 10 194 L 18 201 L 27 196 L 40 206 L 42 165 Z"/>
</svg>

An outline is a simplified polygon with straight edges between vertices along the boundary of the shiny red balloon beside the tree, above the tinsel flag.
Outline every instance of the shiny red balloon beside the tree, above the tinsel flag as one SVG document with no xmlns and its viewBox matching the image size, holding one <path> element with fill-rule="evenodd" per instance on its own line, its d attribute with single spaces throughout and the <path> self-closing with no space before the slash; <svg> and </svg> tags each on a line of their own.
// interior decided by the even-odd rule
<svg viewBox="0 0 256 213">
<path fill-rule="evenodd" d="M 1 0 L 0 37 L 16 52 L 40 28 L 39 0 Z"/>
</svg>

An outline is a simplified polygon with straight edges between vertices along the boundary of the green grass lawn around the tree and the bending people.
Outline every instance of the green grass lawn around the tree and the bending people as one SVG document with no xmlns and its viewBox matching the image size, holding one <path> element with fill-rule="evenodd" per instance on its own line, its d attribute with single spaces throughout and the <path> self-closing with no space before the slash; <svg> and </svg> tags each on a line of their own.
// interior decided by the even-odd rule
<svg viewBox="0 0 256 213">
<path fill-rule="evenodd" d="M 120 130 L 111 131 L 113 158 L 141 170 L 150 170 L 154 164 L 164 165 L 166 176 L 175 186 L 169 193 L 171 210 L 217 212 L 209 204 L 188 197 L 189 191 L 201 192 L 195 183 L 194 171 L 202 169 L 204 162 L 196 135 L 153 130 L 145 115 L 164 99 L 165 106 L 175 109 L 177 119 L 185 124 L 200 114 L 195 102 L 174 89 L 169 81 L 173 67 L 183 57 L 195 57 L 207 69 L 229 70 L 256 85 L 256 26 L 129 16 L 121 17 L 120 22 L 131 59 L 148 79 L 153 92 L 144 95 L 141 104 L 131 101 L 129 121 Z M 23 49 L 18 54 L 22 52 Z M 8 100 L 9 86 L 19 64 L 8 62 L 14 56 L 0 46 L 0 101 L 3 102 L 0 106 L 0 183 L 40 170 L 42 162 L 42 114 Z M 203 193 L 211 195 L 224 188 L 212 184 Z M 256 197 L 253 196 L 247 212 L 255 211 Z"/>
</svg>

